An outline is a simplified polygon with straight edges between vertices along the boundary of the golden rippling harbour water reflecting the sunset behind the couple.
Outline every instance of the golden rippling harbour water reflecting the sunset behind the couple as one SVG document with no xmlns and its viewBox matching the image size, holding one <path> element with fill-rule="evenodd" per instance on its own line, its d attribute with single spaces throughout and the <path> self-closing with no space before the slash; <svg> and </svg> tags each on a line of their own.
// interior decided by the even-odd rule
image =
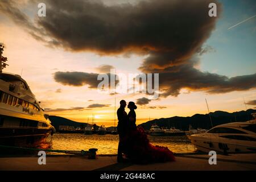
<svg viewBox="0 0 256 182">
<path fill-rule="evenodd" d="M 191 153 L 196 148 L 191 144 L 187 136 L 151 136 L 150 143 L 166 146 L 174 153 Z M 89 150 L 98 148 L 97 154 L 117 154 L 118 135 L 84 135 L 84 134 L 54 134 L 48 138 L 47 144 L 52 150 Z M 54 153 L 59 154 L 59 153 Z"/>
</svg>

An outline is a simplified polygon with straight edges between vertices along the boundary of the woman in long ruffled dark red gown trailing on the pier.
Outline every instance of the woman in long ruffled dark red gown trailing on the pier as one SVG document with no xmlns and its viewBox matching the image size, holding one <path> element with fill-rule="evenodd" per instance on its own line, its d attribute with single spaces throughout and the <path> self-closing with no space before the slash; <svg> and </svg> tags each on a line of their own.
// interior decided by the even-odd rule
<svg viewBox="0 0 256 182">
<path fill-rule="evenodd" d="M 125 142 L 127 158 L 131 162 L 140 164 L 174 161 L 175 157 L 172 151 L 167 147 L 152 145 L 144 129 L 136 126 L 135 109 L 137 109 L 137 106 L 135 103 L 129 102 L 128 108 L 130 109 L 127 115 L 129 125 Z"/>
</svg>

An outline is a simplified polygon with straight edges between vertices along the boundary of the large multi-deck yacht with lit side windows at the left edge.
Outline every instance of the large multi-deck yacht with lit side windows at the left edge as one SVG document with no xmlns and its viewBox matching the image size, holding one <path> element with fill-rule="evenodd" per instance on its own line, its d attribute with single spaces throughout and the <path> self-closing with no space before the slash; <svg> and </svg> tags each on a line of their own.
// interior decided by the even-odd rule
<svg viewBox="0 0 256 182">
<path fill-rule="evenodd" d="M 38 146 L 55 132 L 27 82 L 19 75 L 3 73 L 7 58 L 0 45 L 0 144 Z"/>
</svg>

